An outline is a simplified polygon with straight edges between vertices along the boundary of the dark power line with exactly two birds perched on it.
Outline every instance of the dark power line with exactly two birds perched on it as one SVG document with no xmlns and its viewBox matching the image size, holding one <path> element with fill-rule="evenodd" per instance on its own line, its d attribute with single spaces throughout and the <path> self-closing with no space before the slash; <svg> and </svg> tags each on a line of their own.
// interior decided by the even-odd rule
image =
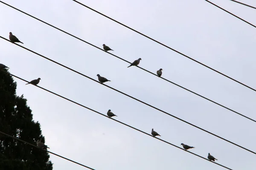
<svg viewBox="0 0 256 170">
<path fill-rule="evenodd" d="M 0 37 L 1 37 L 1 36 L 0 36 Z M 4 40 L 6 40 L 6 41 L 9 41 L 9 40 L 7 40 L 7 39 L 4 38 L 4 37 L 1 37 L 1 38 L 4 39 Z M 9 41 L 9 42 L 10 42 L 10 41 Z M 15 44 L 15 43 L 14 43 L 14 44 Z M 180 121 L 182 121 L 182 122 L 185 122 L 185 123 L 187 123 L 187 124 L 189 124 L 189 125 L 191 125 L 191 126 L 193 126 L 193 127 L 196 127 L 196 128 L 198 128 L 198 129 L 200 129 L 200 130 L 203 130 L 204 132 L 207 132 L 207 133 L 209 133 L 209 134 L 211 134 L 211 135 L 213 135 L 213 136 L 215 136 L 215 137 L 218 137 L 218 138 L 220 138 L 220 139 L 222 139 L 222 140 L 224 140 L 224 141 L 227 141 L 227 142 L 229 142 L 229 143 L 231 143 L 231 144 L 234 144 L 234 145 L 236 145 L 236 146 L 238 146 L 238 147 L 241 147 L 241 148 L 243 148 L 244 150 L 247 150 L 247 151 L 249 151 L 249 152 L 251 152 L 251 153 L 256 154 L 256 153 L 253 152 L 252 150 L 249 150 L 249 149 L 247 149 L 247 148 L 245 148 L 245 147 L 240 146 L 239 144 L 236 144 L 236 143 L 231 142 L 231 141 L 229 141 L 229 140 L 227 140 L 227 139 L 224 139 L 224 138 L 222 138 L 221 136 L 215 135 L 214 133 L 211 133 L 211 132 L 209 132 L 209 131 L 207 131 L 207 130 L 204 130 L 204 129 L 201 128 L 201 127 L 198 127 L 198 126 L 196 126 L 196 125 L 193 125 L 192 123 L 186 122 L 186 121 L 183 120 L 183 119 L 180 119 L 180 118 L 178 118 L 178 117 L 176 117 L 176 116 L 174 116 L 174 115 L 172 115 L 172 114 L 170 114 L 170 113 L 168 113 L 168 112 L 166 112 L 166 111 L 163 111 L 163 110 L 161 110 L 161 109 L 159 109 L 159 108 L 157 108 L 157 107 L 154 107 L 154 106 L 152 106 L 152 105 L 149 105 L 148 103 L 143 102 L 143 101 L 141 101 L 141 100 L 139 100 L 139 99 L 137 99 L 137 98 L 135 98 L 135 97 L 133 97 L 133 96 L 130 96 L 130 95 L 128 95 L 128 94 L 125 94 L 125 93 L 122 92 L 122 91 L 119 91 L 119 90 L 117 90 L 117 89 L 115 89 L 115 88 L 112 88 L 112 87 L 110 87 L 110 86 L 108 86 L 108 85 L 105 85 L 105 84 L 103 84 L 103 83 L 101 83 L 101 82 L 99 82 L 99 81 L 97 81 L 97 80 L 95 80 L 95 79 L 93 79 L 93 78 L 91 78 L 91 77 L 88 77 L 88 76 L 86 76 L 86 75 L 84 75 L 84 74 L 82 74 L 82 73 L 80 73 L 80 72 L 78 72 L 78 71 L 75 71 L 75 70 L 73 70 L 72 68 L 69 68 L 69 67 L 67 67 L 67 66 L 65 66 L 65 65 L 63 65 L 63 64 L 61 64 L 61 63 L 59 63 L 59 62 L 56 62 L 56 61 L 54 61 L 54 60 L 52 60 L 52 59 L 49 59 L 49 58 L 47 58 L 47 57 L 44 57 L 43 55 L 38 54 L 38 53 L 36 53 L 35 51 L 32 51 L 32 50 L 30 50 L 30 49 L 28 49 L 28 48 L 26 48 L 26 47 L 23 47 L 23 46 L 21 46 L 21 45 L 19 45 L 19 44 L 15 44 L 15 45 L 18 45 L 18 46 L 20 46 L 21 48 L 24 48 L 24 49 L 26 49 L 26 50 L 28 50 L 28 51 L 34 53 L 34 54 L 37 54 L 38 56 L 43 57 L 44 59 L 47 59 L 47 60 L 49 60 L 49 61 L 51 61 L 51 62 L 54 62 L 55 64 L 61 65 L 62 67 L 67 68 L 68 70 L 71 70 L 71 71 L 73 71 L 73 72 L 75 72 L 75 73 L 77 73 L 77 74 L 80 74 L 81 76 L 87 77 L 88 79 L 93 80 L 94 82 L 100 83 L 101 85 L 104 85 L 104 86 L 106 86 L 106 87 L 108 87 L 108 88 L 111 88 L 112 90 L 117 91 L 117 92 L 119 92 L 119 93 L 121 93 L 121 94 L 123 94 L 123 95 L 125 95 L 125 96 L 128 96 L 128 97 L 130 97 L 131 99 L 134 99 L 134 100 L 136 100 L 136 101 L 138 101 L 138 102 L 141 102 L 141 103 L 143 103 L 144 105 L 147 105 L 147 106 L 149 106 L 149 107 L 151 107 L 151 108 L 154 108 L 154 109 L 156 109 L 157 111 L 160 111 L 160 112 L 165 113 L 165 114 L 167 114 L 167 115 L 169 115 L 169 116 L 172 116 L 172 117 L 174 117 L 175 119 L 178 119 L 178 120 L 180 120 Z"/>
</svg>

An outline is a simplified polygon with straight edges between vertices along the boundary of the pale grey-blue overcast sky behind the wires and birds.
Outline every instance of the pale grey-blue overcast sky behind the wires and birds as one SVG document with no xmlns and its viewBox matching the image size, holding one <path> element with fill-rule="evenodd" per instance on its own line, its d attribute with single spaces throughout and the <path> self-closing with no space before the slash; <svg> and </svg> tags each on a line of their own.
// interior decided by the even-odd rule
<svg viewBox="0 0 256 170">
<path fill-rule="evenodd" d="M 256 92 L 163 47 L 72 0 L 3 0 L 20 10 L 98 47 L 106 44 L 130 62 L 256 119 Z M 256 88 L 256 28 L 204 0 L 80 0 L 109 17 L 163 42 L 250 87 Z M 256 24 L 256 10 L 230 0 L 213 3 Z M 242 2 L 256 6 L 255 0 Z M 256 123 L 202 99 L 169 82 L 130 67 L 116 57 L 87 45 L 0 3 L 0 35 L 9 32 L 26 48 L 106 82 L 144 102 L 256 151 Z M 39 85 L 101 113 L 111 109 L 119 121 L 151 133 L 154 128 L 173 144 L 233 170 L 256 167 L 256 155 L 119 94 L 53 62 L 0 40 L 0 63 L 23 79 L 41 78 Z M 111 119 L 16 79 L 33 118 L 40 122 L 50 151 L 96 170 L 223 170 Z M 83 170 L 50 155 L 54 170 Z"/>
</svg>

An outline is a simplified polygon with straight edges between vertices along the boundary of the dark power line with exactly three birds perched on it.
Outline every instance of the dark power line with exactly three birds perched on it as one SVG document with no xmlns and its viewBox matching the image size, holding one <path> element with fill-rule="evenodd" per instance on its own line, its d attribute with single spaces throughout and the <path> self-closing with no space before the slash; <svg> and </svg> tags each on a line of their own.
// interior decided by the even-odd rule
<svg viewBox="0 0 256 170">
<path fill-rule="evenodd" d="M 1 1 L 0 1 L 0 2 L 1 2 Z M 2 3 L 3 3 L 3 2 L 2 2 Z M 6 3 L 4 3 L 4 4 L 6 4 Z M 6 4 L 6 5 L 7 5 L 7 6 L 10 6 L 10 5 L 8 5 L 8 4 Z M 51 26 L 51 27 L 53 27 L 53 28 L 55 28 L 55 29 L 58 29 L 59 31 L 62 31 L 62 32 L 66 33 L 66 34 L 68 34 L 68 35 L 70 35 L 70 36 L 72 36 L 72 37 L 74 37 L 74 38 L 76 38 L 76 39 L 78 39 L 78 40 L 81 40 L 82 42 L 85 42 L 85 43 L 87 43 L 87 44 L 89 44 L 89 45 L 92 45 L 93 47 L 98 48 L 99 50 L 104 51 L 102 48 L 99 48 L 99 47 L 97 47 L 96 45 L 93 45 L 93 44 L 91 44 L 91 43 L 89 43 L 89 42 L 87 42 L 87 41 L 84 41 L 84 40 L 80 39 L 79 37 L 74 36 L 73 34 L 70 34 L 70 33 L 66 32 L 66 31 L 63 31 L 63 30 L 61 30 L 60 28 L 57 28 L 57 27 L 55 27 L 55 26 L 52 26 L 51 24 L 46 23 L 46 22 L 43 21 L 43 20 L 40 20 L 40 19 L 38 19 L 38 18 L 36 18 L 36 17 L 30 15 L 30 14 L 27 14 L 26 12 L 23 12 L 23 11 L 21 11 L 21 10 L 15 8 L 15 7 L 13 7 L 13 6 L 10 6 L 10 7 L 11 7 L 11 8 L 14 8 L 14 9 L 16 9 L 17 11 L 20 11 L 20 12 L 22 12 L 23 14 L 26 14 L 26 15 L 28 15 L 28 16 L 30 16 L 30 17 L 36 19 L 36 20 L 39 20 L 39 21 L 41 21 L 42 23 L 47 24 L 48 26 Z M 1 37 L 1 36 L 0 36 L 0 37 Z M 1 38 L 3 38 L 3 37 L 1 37 Z M 5 38 L 3 38 L 3 39 L 5 39 Z M 5 39 L 5 40 L 7 40 L 7 39 Z M 8 41 L 9 41 L 9 40 L 8 40 Z M 19 46 L 20 46 L 20 45 L 19 45 Z M 20 47 L 24 48 L 23 46 L 20 46 Z M 27 49 L 27 48 L 25 48 L 25 49 Z M 28 50 L 28 49 L 27 49 L 27 50 Z M 29 50 L 29 51 L 30 51 L 30 50 Z M 31 51 L 31 52 L 32 52 L 32 51 Z M 108 53 L 108 52 L 107 52 L 107 53 Z M 111 54 L 111 53 L 108 53 L 108 54 Z M 116 56 L 116 55 L 114 55 L 114 54 L 111 54 L 111 55 L 131 64 L 131 62 L 129 62 L 129 61 L 125 60 L 125 59 L 122 59 L 121 57 L 118 57 L 118 56 Z M 41 57 L 42 57 L 42 56 L 41 56 Z M 139 66 L 137 66 L 137 67 L 140 68 L 140 69 L 142 69 L 143 71 L 146 71 L 146 72 L 148 72 L 148 73 L 154 75 L 154 76 L 157 76 L 157 74 L 154 74 L 154 73 L 152 73 L 151 71 L 148 71 L 148 70 L 146 70 L 146 69 L 144 69 L 144 68 L 141 68 L 141 67 L 139 67 Z M 157 76 L 157 77 L 158 77 L 158 76 Z M 232 111 L 232 112 L 234 112 L 234 113 L 236 113 L 236 114 L 239 114 L 240 116 L 243 116 L 243 117 L 245 117 L 245 118 L 247 118 L 247 119 L 250 119 L 250 120 L 253 121 L 253 122 L 256 122 L 256 120 L 254 120 L 254 119 L 251 119 L 251 118 L 249 118 L 249 117 L 247 117 L 247 116 L 245 116 L 245 115 L 243 115 L 243 114 L 241 114 L 241 113 L 239 113 L 239 112 L 237 112 L 237 111 L 234 111 L 234 110 L 232 110 L 232 109 L 230 109 L 230 108 L 227 108 L 226 106 L 221 105 L 221 104 L 219 104 L 218 102 L 214 102 L 213 100 L 208 99 L 207 97 L 204 97 L 204 96 L 202 96 L 202 95 L 200 95 L 200 94 L 197 94 L 197 93 L 195 93 L 195 92 L 193 92 L 193 91 L 191 91 L 191 90 L 189 90 L 189 89 L 187 89 L 187 88 L 184 88 L 183 86 L 178 85 L 178 84 L 176 84 L 175 82 L 172 82 L 172 81 L 170 81 L 170 80 L 168 80 L 168 79 L 165 79 L 165 78 L 163 78 L 163 77 L 160 77 L 160 78 L 163 79 L 163 80 L 166 80 L 167 82 L 170 82 L 170 83 L 172 83 L 172 84 L 174 84 L 174 85 L 177 85 L 178 87 L 183 88 L 184 90 L 189 91 L 189 92 L 191 92 L 191 93 L 193 93 L 193 94 L 195 94 L 195 95 L 197 95 L 197 96 L 200 96 L 200 97 L 202 97 L 202 98 L 204 98 L 204 99 L 207 99 L 208 101 L 213 102 L 213 103 L 215 103 L 216 105 L 219 105 L 219 106 L 221 106 L 221 107 L 223 107 L 223 108 L 226 108 L 226 109 L 229 110 L 229 111 Z"/>
</svg>

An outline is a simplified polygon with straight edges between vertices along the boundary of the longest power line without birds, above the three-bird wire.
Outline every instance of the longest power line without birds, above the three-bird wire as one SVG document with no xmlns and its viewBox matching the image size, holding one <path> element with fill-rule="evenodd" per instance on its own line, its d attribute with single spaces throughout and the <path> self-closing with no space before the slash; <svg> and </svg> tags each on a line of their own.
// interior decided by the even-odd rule
<svg viewBox="0 0 256 170">
<path fill-rule="evenodd" d="M 165 46 L 166 48 L 171 49 L 172 51 L 177 52 L 178 54 L 183 55 L 184 57 L 186 57 L 186 58 L 188 58 L 188 59 L 191 59 L 191 60 L 194 61 L 194 62 L 197 62 L 198 64 L 203 65 L 204 67 L 207 67 L 207 68 L 211 69 L 212 71 L 215 71 L 215 72 L 218 73 L 218 74 L 221 74 L 221 75 L 224 76 L 224 77 L 227 77 L 227 78 L 229 78 L 229 79 L 231 79 L 231 80 L 233 80 L 233 81 L 235 81 L 235 82 L 237 82 L 237 83 L 239 83 L 239 84 L 241 84 L 241 85 L 243 85 L 243 86 L 245 86 L 245 87 L 247 87 L 247 88 L 250 88 L 250 89 L 253 90 L 253 91 L 256 91 L 254 88 L 251 88 L 250 86 L 245 85 L 244 83 L 239 82 L 238 80 L 233 79 L 233 78 L 227 76 L 226 74 L 223 74 L 223 73 L 221 73 L 220 71 L 217 71 L 217 70 L 215 70 L 214 68 L 211 68 L 211 67 L 209 67 L 208 65 L 203 64 L 202 62 L 199 62 L 199 61 L 197 61 L 197 60 L 195 60 L 195 59 L 193 59 L 193 58 L 191 58 L 191 57 L 189 57 L 189 56 L 187 56 L 187 55 L 185 55 L 185 54 L 183 54 L 183 53 L 181 53 L 181 52 L 179 52 L 179 51 L 177 51 L 177 50 L 175 50 L 175 49 L 173 49 L 173 48 L 171 48 L 171 47 L 169 47 L 169 46 L 167 46 L 167 45 L 165 45 L 165 44 L 163 44 L 162 42 L 159 42 L 159 41 L 157 41 L 157 40 L 154 40 L 153 38 L 148 37 L 147 35 L 142 34 L 141 32 L 136 31 L 135 29 L 133 29 L 133 28 L 131 28 L 131 27 L 128 27 L 128 26 L 126 26 L 125 24 L 120 23 L 119 21 L 114 20 L 113 18 L 108 17 L 107 15 L 100 13 L 99 11 L 96 11 L 96 10 L 93 9 L 93 8 L 90 8 L 89 6 L 86 6 L 86 5 L 80 3 L 80 2 L 78 2 L 78 1 L 76 1 L 76 0 L 73 0 L 73 1 L 76 2 L 76 3 L 79 3 L 81 6 L 84 6 L 84 7 L 88 8 L 88 9 L 90 9 L 90 10 L 92 10 L 92 11 L 98 13 L 98 14 L 101 14 L 101 15 L 104 16 L 104 17 L 107 17 L 108 19 L 110 19 L 110 20 L 112 20 L 112 21 L 114 21 L 114 22 L 116 22 L 116 23 L 119 23 L 120 25 L 122 25 L 122 26 L 124 26 L 124 27 L 126 27 L 126 28 L 129 28 L 130 30 L 132 30 L 132 31 L 134 31 L 134 32 L 137 32 L 138 34 L 140 34 L 140 35 L 142 35 L 142 36 L 144 36 L 144 37 L 146 37 L 146 38 L 148 38 L 148 39 L 150 39 L 150 40 L 152 40 L 152 41 L 154 41 L 154 42 L 157 42 L 157 43 L 160 44 L 160 45 Z M 0 1 L 0 2 L 1 2 L 1 1 Z"/>
</svg>

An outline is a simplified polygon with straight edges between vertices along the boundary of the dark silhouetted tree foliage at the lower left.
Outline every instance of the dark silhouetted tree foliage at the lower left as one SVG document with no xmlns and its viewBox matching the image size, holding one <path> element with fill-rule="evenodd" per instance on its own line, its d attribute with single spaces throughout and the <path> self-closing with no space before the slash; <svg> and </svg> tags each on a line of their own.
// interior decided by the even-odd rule
<svg viewBox="0 0 256 170">
<path fill-rule="evenodd" d="M 0 131 L 34 145 L 38 139 L 44 142 L 40 123 L 33 121 L 23 95 L 16 95 L 16 86 L 0 70 Z M 0 170 L 52 170 L 52 162 L 44 150 L 0 134 Z"/>
</svg>

